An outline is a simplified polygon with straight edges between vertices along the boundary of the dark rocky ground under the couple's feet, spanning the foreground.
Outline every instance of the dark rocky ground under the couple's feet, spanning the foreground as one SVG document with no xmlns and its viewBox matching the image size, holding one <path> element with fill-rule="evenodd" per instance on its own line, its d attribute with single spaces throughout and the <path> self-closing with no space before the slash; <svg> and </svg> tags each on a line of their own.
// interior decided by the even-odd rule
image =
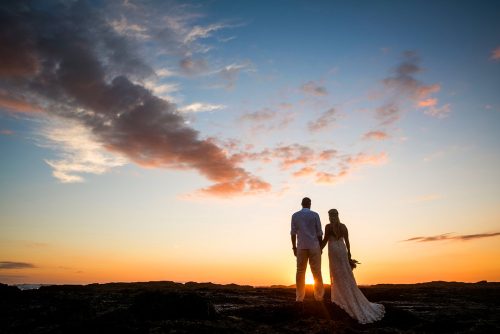
<svg viewBox="0 0 500 334">
<path fill-rule="evenodd" d="M 147 282 L 22 291 L 0 284 L 0 333 L 500 333 L 500 283 L 362 290 L 385 305 L 382 321 L 360 325 L 312 301 L 310 290 L 310 301 L 296 306 L 292 287 Z"/>
</svg>

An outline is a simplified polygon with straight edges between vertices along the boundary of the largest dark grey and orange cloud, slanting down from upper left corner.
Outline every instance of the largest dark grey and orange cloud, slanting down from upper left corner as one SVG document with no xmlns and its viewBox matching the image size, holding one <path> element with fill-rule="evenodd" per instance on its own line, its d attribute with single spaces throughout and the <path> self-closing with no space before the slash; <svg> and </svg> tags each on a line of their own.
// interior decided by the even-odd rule
<svg viewBox="0 0 500 334">
<path fill-rule="evenodd" d="M 12 2 L 0 9 L 0 30 L 8 32 L 2 34 L 2 42 L 13 42 L 4 44 L 10 46 L 8 54 L 0 54 L 0 80 L 8 92 L 26 92 L 52 117 L 79 124 L 110 154 L 143 167 L 197 171 L 213 183 L 202 189 L 206 194 L 237 195 L 270 187 L 201 138 L 174 104 L 139 83 L 154 71 L 127 37 L 103 18 L 105 12 L 86 2 L 55 1 L 38 8 Z M 11 53 L 36 66 L 23 63 L 26 69 L 21 70 L 20 63 L 9 60 Z M 19 69 L 8 68 L 14 65 Z M 77 157 L 83 154 L 68 138 L 52 139 L 59 140 L 61 147 L 71 147 Z M 79 181 L 79 173 L 100 172 L 107 166 L 95 164 L 95 155 L 83 166 L 73 158 L 47 163 L 59 179 L 68 182 Z"/>
</svg>

